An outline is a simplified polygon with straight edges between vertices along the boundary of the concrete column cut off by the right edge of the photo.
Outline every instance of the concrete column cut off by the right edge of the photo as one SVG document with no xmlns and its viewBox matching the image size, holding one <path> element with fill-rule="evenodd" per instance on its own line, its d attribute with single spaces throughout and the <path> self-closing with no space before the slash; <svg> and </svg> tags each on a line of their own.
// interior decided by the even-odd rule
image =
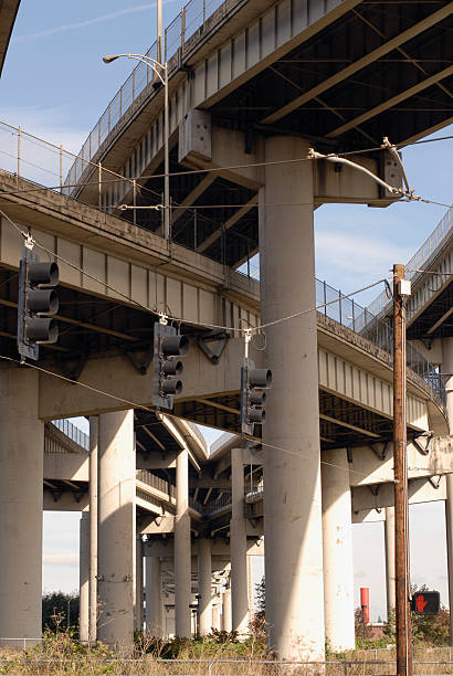
<svg viewBox="0 0 453 676">
<path fill-rule="evenodd" d="M 453 373 L 453 338 L 442 339 L 442 373 Z M 453 436 L 453 376 L 444 378 L 446 390 L 446 415 L 450 436 Z M 445 475 L 445 529 L 446 560 L 449 571 L 449 605 L 450 605 L 450 645 L 453 646 L 453 474 Z"/>
</svg>

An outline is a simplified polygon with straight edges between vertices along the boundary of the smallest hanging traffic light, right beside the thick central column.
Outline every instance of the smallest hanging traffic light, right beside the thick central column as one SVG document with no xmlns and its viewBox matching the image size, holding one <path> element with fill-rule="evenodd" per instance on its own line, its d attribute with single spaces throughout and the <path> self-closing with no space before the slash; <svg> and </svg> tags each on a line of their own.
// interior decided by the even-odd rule
<svg viewBox="0 0 453 676">
<path fill-rule="evenodd" d="M 263 391 L 272 384 L 270 369 L 255 369 L 251 359 L 244 359 L 241 367 L 241 431 L 243 434 L 253 434 L 254 425 L 263 424 L 266 412 L 264 402 L 266 393 Z"/>
</svg>

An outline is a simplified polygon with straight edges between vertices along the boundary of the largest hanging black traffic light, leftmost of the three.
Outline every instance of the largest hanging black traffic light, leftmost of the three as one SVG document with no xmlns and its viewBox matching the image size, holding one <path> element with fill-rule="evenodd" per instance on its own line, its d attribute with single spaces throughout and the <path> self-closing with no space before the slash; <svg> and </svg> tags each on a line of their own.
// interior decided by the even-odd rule
<svg viewBox="0 0 453 676">
<path fill-rule="evenodd" d="M 59 266 L 51 261 L 41 263 L 28 246 L 23 247 L 19 265 L 18 351 L 22 359 L 39 358 L 39 346 L 56 342 L 59 327 L 49 315 L 59 311 Z"/>
</svg>

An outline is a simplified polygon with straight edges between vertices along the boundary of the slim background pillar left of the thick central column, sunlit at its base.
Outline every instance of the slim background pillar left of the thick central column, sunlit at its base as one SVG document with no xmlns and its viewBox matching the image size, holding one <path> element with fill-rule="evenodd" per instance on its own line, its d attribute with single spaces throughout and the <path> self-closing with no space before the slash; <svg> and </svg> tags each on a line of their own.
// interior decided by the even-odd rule
<svg viewBox="0 0 453 676">
<path fill-rule="evenodd" d="M 246 563 L 246 520 L 244 518 L 243 450 L 231 450 L 231 606 L 233 631 L 240 635 L 249 630 L 249 590 Z"/>
</svg>

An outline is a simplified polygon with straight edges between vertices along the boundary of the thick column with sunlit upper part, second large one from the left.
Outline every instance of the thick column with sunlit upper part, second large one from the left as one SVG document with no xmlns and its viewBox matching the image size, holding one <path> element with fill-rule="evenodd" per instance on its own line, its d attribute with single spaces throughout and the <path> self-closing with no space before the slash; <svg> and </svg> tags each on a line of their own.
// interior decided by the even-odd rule
<svg viewBox="0 0 453 676">
<path fill-rule="evenodd" d="M 103 413 L 98 425 L 97 638 L 127 647 L 135 602 L 134 412 Z"/>
</svg>

